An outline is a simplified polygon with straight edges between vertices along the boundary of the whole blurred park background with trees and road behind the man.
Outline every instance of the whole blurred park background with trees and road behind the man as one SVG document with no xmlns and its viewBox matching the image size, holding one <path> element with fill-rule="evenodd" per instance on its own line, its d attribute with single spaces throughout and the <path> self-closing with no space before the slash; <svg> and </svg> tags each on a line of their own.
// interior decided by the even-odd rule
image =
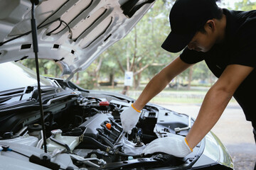
<svg viewBox="0 0 256 170">
<path fill-rule="evenodd" d="M 84 72 L 76 73 L 71 81 L 85 89 L 115 91 L 137 98 L 149 80 L 179 55 L 161 48 L 170 32 L 169 11 L 173 4 L 174 0 L 157 0 L 126 38 L 103 52 Z M 256 0 L 222 0 L 218 6 L 248 11 L 256 9 Z M 35 69 L 34 60 L 21 62 Z M 60 68 L 53 61 L 40 60 L 39 64 L 43 76 L 68 77 L 61 75 Z M 129 86 L 124 79 L 127 72 L 132 77 Z M 206 63 L 200 62 L 171 81 L 164 93 L 154 100 L 200 103 L 215 81 Z"/>
</svg>

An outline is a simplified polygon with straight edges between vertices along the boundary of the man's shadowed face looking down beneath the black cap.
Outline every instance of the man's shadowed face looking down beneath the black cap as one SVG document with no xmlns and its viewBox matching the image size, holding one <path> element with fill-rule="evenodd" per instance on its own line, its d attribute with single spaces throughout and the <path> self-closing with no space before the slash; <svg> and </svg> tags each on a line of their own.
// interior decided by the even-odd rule
<svg viewBox="0 0 256 170">
<path fill-rule="evenodd" d="M 192 38 L 191 42 L 188 43 L 188 49 L 196 50 L 198 52 L 208 52 L 214 44 L 215 36 L 213 33 L 208 31 L 206 31 L 206 33 L 202 33 L 198 31 Z"/>
</svg>

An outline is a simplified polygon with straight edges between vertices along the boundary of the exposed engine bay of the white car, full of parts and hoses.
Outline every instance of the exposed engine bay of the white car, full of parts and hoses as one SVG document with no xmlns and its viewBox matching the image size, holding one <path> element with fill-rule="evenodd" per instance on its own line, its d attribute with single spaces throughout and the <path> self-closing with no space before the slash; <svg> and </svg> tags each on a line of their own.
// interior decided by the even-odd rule
<svg viewBox="0 0 256 170">
<path fill-rule="evenodd" d="M 132 101 L 106 96 L 100 98 L 83 92 L 48 102 L 44 106 L 47 154 L 43 153 L 38 111 L 20 108 L 9 111 L 8 115 L 1 114 L 0 146 L 4 148 L 1 155 L 29 158 L 29 162 L 40 164 L 40 157 L 46 154 L 50 162 L 62 169 L 132 169 L 135 166 L 175 169 L 196 162 L 202 152 L 201 143 L 184 158 L 164 153 L 142 154 L 144 147 L 158 137 L 186 136 L 193 124 L 190 116 L 149 103 L 132 133 L 127 134 L 122 130 L 119 115 Z"/>
</svg>

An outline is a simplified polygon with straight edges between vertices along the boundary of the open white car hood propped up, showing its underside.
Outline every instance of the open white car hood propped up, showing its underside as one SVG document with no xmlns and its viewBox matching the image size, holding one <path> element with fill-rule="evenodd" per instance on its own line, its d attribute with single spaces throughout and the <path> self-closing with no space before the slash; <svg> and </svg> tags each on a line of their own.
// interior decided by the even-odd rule
<svg viewBox="0 0 256 170">
<path fill-rule="evenodd" d="M 31 1 L 1 0 L 0 63 L 33 58 Z M 63 74 L 86 69 L 124 38 L 154 0 L 43 0 L 35 8 L 38 57 L 54 60 Z"/>
</svg>

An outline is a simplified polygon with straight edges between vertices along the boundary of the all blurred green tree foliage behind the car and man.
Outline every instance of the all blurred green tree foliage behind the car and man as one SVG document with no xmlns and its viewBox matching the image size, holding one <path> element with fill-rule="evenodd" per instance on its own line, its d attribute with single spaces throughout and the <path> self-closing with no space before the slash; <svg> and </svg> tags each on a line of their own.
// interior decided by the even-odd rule
<svg viewBox="0 0 256 170">
<path fill-rule="evenodd" d="M 146 67 L 142 72 L 141 77 L 137 76 L 138 80 L 149 81 L 154 74 L 160 72 L 166 64 L 169 64 L 179 55 L 166 52 L 161 48 L 162 42 L 171 31 L 169 11 L 174 1 L 156 1 L 124 39 L 103 52 L 84 72 L 75 74 L 72 81 L 85 89 L 93 89 L 97 86 L 98 78 L 110 80 L 110 76 L 114 75 L 116 79 L 122 80 L 124 71 L 130 71 L 128 69 L 131 69 L 130 66 L 133 62 L 132 72 L 138 72 L 139 69 L 149 64 L 149 67 Z M 256 9 L 256 2 L 240 0 L 235 3 L 235 9 L 242 11 Z M 21 63 L 36 70 L 35 60 L 23 60 Z M 48 77 L 60 77 L 61 75 L 58 64 L 53 61 L 39 60 L 39 67 L 42 75 Z M 188 74 L 189 70 L 186 70 L 177 79 L 187 81 Z M 204 62 L 200 62 L 193 67 L 193 79 L 206 80 L 208 77 L 213 77 L 213 75 Z"/>
</svg>

